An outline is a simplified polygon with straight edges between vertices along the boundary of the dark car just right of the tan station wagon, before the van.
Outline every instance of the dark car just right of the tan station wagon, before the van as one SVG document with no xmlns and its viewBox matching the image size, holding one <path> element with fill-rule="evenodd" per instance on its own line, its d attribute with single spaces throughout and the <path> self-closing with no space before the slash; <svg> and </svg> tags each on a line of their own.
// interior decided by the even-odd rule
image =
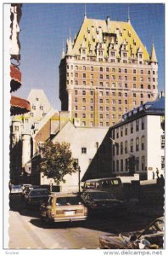
<svg viewBox="0 0 168 256">
<path fill-rule="evenodd" d="M 124 203 L 115 198 L 111 192 L 98 191 L 98 190 L 86 190 L 81 198 L 85 202 L 89 212 L 103 211 L 119 211 L 123 209 Z"/>
</svg>

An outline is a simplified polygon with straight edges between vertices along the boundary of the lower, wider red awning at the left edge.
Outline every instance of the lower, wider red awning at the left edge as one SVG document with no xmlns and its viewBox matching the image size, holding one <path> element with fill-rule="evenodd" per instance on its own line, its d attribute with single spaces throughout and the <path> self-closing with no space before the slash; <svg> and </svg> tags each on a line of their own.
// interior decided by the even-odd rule
<svg viewBox="0 0 168 256">
<path fill-rule="evenodd" d="M 11 115 L 23 114 L 29 111 L 31 111 L 30 102 L 16 96 L 11 96 L 11 100 L 10 100 Z"/>
</svg>

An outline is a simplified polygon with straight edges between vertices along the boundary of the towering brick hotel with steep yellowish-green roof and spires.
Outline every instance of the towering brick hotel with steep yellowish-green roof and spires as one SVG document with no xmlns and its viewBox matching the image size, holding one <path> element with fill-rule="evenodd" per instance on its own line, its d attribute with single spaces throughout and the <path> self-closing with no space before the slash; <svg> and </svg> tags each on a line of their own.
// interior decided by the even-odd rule
<svg viewBox="0 0 168 256">
<path fill-rule="evenodd" d="M 67 40 L 59 65 L 61 110 L 76 126 L 115 125 L 158 96 L 158 61 L 126 22 L 87 19 Z"/>
</svg>

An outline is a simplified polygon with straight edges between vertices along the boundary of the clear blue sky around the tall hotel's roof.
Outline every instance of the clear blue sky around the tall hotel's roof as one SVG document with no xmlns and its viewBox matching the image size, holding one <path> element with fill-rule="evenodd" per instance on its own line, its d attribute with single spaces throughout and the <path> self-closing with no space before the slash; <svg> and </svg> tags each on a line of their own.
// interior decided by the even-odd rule
<svg viewBox="0 0 168 256">
<path fill-rule="evenodd" d="M 165 90 L 165 5 L 163 3 L 87 3 L 91 19 L 126 21 L 131 17 L 137 35 L 159 61 L 159 90 Z M 81 27 L 84 3 L 27 3 L 22 6 L 20 44 L 22 86 L 14 95 L 27 98 L 31 88 L 43 89 L 60 110 L 59 62 L 67 38 Z"/>
</svg>

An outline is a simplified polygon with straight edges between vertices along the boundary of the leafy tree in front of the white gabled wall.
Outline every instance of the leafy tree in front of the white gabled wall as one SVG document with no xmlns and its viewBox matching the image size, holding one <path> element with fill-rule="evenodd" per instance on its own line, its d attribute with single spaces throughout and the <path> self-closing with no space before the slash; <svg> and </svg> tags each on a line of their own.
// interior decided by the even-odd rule
<svg viewBox="0 0 168 256">
<path fill-rule="evenodd" d="M 64 176 L 77 172 L 73 166 L 74 160 L 69 143 L 47 142 L 41 146 L 39 169 L 44 176 L 52 177 L 55 183 L 65 183 Z"/>
</svg>

